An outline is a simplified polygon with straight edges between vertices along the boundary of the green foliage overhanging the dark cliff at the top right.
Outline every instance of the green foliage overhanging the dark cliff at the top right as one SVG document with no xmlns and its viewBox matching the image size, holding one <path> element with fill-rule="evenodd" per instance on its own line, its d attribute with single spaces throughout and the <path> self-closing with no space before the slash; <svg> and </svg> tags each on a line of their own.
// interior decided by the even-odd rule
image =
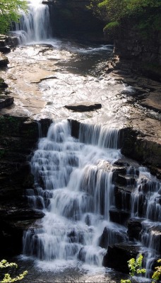
<svg viewBox="0 0 161 283">
<path fill-rule="evenodd" d="M 138 30 L 161 30 L 160 0 L 91 0 L 88 8 L 107 23 L 105 31 L 114 32 L 127 18 L 138 20 Z"/>
</svg>

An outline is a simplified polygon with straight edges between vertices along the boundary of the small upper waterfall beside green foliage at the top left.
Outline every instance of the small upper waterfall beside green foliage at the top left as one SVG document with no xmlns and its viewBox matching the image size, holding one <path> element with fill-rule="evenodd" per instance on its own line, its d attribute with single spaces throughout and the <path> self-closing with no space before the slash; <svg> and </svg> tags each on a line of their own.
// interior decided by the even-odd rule
<svg viewBox="0 0 161 283">
<path fill-rule="evenodd" d="M 28 1 L 28 12 L 22 12 L 20 23 L 16 24 L 20 43 L 40 42 L 49 38 L 49 6 L 41 0 Z"/>
</svg>

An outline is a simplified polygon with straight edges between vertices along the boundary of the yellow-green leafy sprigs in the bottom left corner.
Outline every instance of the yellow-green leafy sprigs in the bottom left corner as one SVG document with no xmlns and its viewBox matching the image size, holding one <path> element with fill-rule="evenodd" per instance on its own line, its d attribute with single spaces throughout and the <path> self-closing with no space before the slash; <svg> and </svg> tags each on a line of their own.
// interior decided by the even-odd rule
<svg viewBox="0 0 161 283">
<path fill-rule="evenodd" d="M 6 260 L 1 260 L 0 262 L 0 268 L 6 268 L 6 267 L 18 267 L 18 265 L 15 262 L 7 262 Z M 23 277 L 25 277 L 25 275 L 27 275 L 28 271 L 24 271 L 23 273 L 21 273 L 20 275 L 11 278 L 11 275 L 9 275 L 8 273 L 6 273 L 4 275 L 4 278 L 1 280 L 1 283 L 12 283 L 12 282 L 16 282 L 16 281 L 20 281 L 21 279 L 23 279 Z"/>
</svg>

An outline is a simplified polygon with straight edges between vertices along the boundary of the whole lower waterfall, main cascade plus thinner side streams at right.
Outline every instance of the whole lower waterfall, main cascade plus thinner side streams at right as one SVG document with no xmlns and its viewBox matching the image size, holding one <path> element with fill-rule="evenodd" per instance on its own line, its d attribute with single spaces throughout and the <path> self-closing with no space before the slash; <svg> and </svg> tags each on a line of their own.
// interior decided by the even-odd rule
<svg viewBox="0 0 161 283">
<path fill-rule="evenodd" d="M 76 139 L 67 120 L 50 125 L 30 162 L 35 188 L 27 190 L 31 207 L 43 209 L 44 218 L 24 233 L 23 255 L 45 268 L 76 262 L 101 267 L 108 246 L 131 241 L 131 217 L 141 222 L 132 241 L 146 257 L 149 276 L 161 248 L 160 182 L 142 166 L 127 165 L 124 174 L 119 167 L 116 176 L 124 159 L 118 137 L 119 129 L 81 124 Z M 124 187 L 118 185 L 122 178 Z M 119 222 L 122 212 L 129 218 Z"/>
</svg>

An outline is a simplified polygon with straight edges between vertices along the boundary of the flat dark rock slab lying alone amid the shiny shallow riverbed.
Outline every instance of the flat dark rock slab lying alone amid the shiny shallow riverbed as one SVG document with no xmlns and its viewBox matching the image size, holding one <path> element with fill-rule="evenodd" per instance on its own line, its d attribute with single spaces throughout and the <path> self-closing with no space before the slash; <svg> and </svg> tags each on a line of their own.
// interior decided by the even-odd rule
<svg viewBox="0 0 161 283">
<path fill-rule="evenodd" d="M 65 108 L 73 111 L 78 111 L 78 112 L 87 112 L 87 111 L 93 111 L 96 109 L 102 108 L 102 105 L 100 103 L 91 103 L 89 101 L 81 101 L 79 103 L 75 104 L 69 104 L 65 105 Z"/>
</svg>

